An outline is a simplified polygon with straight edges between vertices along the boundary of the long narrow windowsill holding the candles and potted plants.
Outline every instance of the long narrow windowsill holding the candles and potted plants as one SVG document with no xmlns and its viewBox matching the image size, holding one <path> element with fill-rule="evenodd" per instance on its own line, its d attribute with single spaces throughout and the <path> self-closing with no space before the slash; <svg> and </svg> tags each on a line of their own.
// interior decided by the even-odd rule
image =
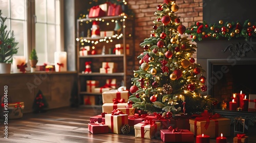
<svg viewBox="0 0 256 143">
<path fill-rule="evenodd" d="M 26 71 L 26 73 L 10 73 L 10 74 L 0 74 L 0 76 L 20 76 L 20 75 L 40 75 L 40 74 L 48 74 L 48 75 L 59 75 L 59 74 L 77 74 L 77 71 L 35 71 L 31 73 L 30 71 Z"/>
</svg>

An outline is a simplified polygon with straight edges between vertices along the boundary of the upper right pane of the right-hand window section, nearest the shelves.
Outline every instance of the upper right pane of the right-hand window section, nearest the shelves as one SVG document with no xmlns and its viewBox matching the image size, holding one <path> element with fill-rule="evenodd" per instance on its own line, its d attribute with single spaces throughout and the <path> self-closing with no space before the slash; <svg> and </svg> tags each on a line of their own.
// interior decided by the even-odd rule
<svg viewBox="0 0 256 143">
<path fill-rule="evenodd" d="M 47 1 L 47 22 L 55 23 L 55 1 Z"/>
</svg>

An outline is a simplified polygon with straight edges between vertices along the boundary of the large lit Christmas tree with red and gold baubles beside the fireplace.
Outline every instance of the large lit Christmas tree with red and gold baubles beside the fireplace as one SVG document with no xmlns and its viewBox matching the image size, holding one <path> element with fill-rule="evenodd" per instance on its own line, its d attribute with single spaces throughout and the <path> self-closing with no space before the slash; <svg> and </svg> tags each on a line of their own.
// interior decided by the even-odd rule
<svg viewBox="0 0 256 143">
<path fill-rule="evenodd" d="M 138 56 L 141 65 L 132 78 L 129 101 L 133 108 L 169 117 L 200 113 L 217 104 L 204 95 L 205 71 L 192 57 L 197 46 L 181 37 L 186 28 L 175 15 L 178 10 L 176 1 L 164 0 L 157 6 L 152 33 L 140 44 L 144 50 Z"/>
</svg>

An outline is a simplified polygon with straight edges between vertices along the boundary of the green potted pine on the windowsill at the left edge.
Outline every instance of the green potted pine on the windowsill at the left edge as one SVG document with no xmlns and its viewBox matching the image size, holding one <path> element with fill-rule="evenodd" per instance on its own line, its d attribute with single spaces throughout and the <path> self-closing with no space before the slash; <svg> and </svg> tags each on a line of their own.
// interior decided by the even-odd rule
<svg viewBox="0 0 256 143">
<path fill-rule="evenodd" d="M 0 10 L 0 74 L 8 74 L 11 72 L 12 56 L 17 54 L 16 45 L 13 31 L 7 31 L 5 25 L 7 17 L 2 17 L 2 11 Z"/>
</svg>

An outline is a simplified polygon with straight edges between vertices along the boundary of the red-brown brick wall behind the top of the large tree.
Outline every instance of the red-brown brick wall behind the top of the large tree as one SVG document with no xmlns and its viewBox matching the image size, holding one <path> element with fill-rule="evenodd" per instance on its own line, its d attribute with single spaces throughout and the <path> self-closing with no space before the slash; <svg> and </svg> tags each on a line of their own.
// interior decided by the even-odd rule
<svg viewBox="0 0 256 143">
<path fill-rule="evenodd" d="M 130 9 L 135 13 L 135 55 L 140 55 L 143 48 L 139 46 L 145 38 L 150 37 L 153 20 L 156 18 L 154 12 L 158 4 L 163 0 L 126 0 Z M 194 25 L 195 21 L 203 20 L 203 1 L 202 0 L 177 0 L 179 10 L 176 12 L 185 27 Z M 139 59 L 135 56 L 135 65 L 139 64 Z"/>
</svg>

